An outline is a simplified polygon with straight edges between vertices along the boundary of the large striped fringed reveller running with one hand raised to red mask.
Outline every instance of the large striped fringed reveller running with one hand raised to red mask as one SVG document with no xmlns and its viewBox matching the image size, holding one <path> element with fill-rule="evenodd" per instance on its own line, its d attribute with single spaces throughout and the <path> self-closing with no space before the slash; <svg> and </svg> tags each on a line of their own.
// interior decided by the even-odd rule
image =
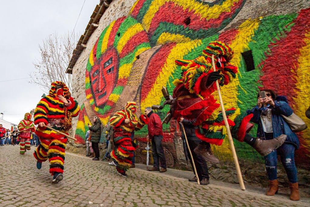
<svg viewBox="0 0 310 207">
<path fill-rule="evenodd" d="M 33 155 L 38 169 L 41 169 L 42 162 L 49 160 L 53 183 L 63 179 L 67 137 L 44 125 L 68 134 L 72 127 L 72 117 L 77 116 L 79 110 L 78 102 L 71 97 L 69 88 L 61 81 L 51 83 L 49 94 L 41 99 L 34 110 L 34 124 L 38 124 L 36 134 L 41 144 Z"/>
</svg>

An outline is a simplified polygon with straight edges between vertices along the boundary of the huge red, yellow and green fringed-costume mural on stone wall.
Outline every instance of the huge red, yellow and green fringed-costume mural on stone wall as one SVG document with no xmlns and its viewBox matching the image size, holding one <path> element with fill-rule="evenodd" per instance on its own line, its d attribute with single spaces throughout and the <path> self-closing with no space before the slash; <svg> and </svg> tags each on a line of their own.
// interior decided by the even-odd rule
<svg viewBox="0 0 310 207">
<path fill-rule="evenodd" d="M 81 106 L 75 135 L 78 142 L 83 142 L 89 117 L 98 115 L 106 124 L 109 116 L 122 107 L 120 97 L 136 101 L 141 111 L 153 104 L 161 105 L 165 100 L 162 86 L 172 94 L 173 80 L 181 77 L 175 60 L 200 56 L 213 40 L 232 47 L 231 63 L 239 67 L 233 82 L 221 88 L 227 107 L 241 112 L 250 109 L 256 104 L 257 91 L 270 88 L 287 96 L 294 112 L 310 126 L 304 114 L 310 104 L 310 8 L 298 13 L 247 19 L 236 28 L 219 33 L 245 2 L 137 0 L 128 16 L 114 20 L 103 30 L 91 50 L 85 70 L 87 100 Z M 244 52 L 248 51 L 253 56 L 254 70 L 246 65 Z M 147 56 L 144 65 L 139 66 L 139 58 L 144 56 Z M 142 76 L 134 82 L 137 70 Z M 136 88 L 132 95 L 126 90 L 130 84 Z M 217 98 L 216 93 L 214 96 Z M 168 110 L 165 106 L 157 113 L 163 119 Z M 163 129 L 164 141 L 173 143 L 179 131 L 175 121 L 164 124 Z M 255 135 L 256 128 L 251 132 Z M 146 135 L 146 127 L 135 134 L 142 142 Z M 309 167 L 305 160 L 310 157 L 310 127 L 298 136 L 301 147 L 296 151 L 296 162 Z M 244 143 L 235 142 L 235 146 L 241 159 L 262 159 Z M 232 159 L 227 139 L 222 146 L 213 146 L 213 151 L 221 160 Z M 174 153 L 175 149 L 171 154 Z"/>
</svg>

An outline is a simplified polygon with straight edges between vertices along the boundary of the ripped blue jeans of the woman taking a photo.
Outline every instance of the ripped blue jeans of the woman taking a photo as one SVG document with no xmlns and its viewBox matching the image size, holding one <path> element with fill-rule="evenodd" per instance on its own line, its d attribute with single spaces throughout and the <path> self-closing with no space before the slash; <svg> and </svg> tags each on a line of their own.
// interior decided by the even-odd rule
<svg viewBox="0 0 310 207">
<path fill-rule="evenodd" d="M 277 179 L 277 154 L 281 157 L 281 162 L 286 171 L 287 178 L 291 183 L 297 182 L 297 169 L 294 161 L 295 147 L 292 144 L 284 143 L 278 149 L 266 155 L 265 165 L 269 180 Z"/>
</svg>

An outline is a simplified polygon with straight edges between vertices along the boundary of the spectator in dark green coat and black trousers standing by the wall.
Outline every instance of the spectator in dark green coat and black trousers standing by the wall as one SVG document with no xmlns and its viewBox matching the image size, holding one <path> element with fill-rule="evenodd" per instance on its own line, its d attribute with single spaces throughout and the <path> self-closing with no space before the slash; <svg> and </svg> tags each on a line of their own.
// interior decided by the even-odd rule
<svg viewBox="0 0 310 207">
<path fill-rule="evenodd" d="M 97 116 L 94 116 L 94 126 L 88 125 L 89 130 L 91 131 L 91 146 L 95 152 L 95 158 L 93 160 L 98 161 L 100 152 L 99 152 L 99 142 L 101 136 L 101 122 Z"/>
</svg>

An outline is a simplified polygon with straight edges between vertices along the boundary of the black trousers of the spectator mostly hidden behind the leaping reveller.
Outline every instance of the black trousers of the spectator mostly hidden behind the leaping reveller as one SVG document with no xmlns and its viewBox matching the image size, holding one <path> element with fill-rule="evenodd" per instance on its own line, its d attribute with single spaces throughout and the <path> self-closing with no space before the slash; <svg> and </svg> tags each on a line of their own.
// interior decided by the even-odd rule
<svg viewBox="0 0 310 207">
<path fill-rule="evenodd" d="M 193 155 L 193 160 L 194 160 L 194 163 L 195 163 L 195 166 L 196 166 L 196 170 L 197 170 L 197 174 L 198 174 L 199 180 L 201 180 L 203 178 L 209 179 L 209 171 L 208 171 L 208 166 L 207 166 L 206 161 L 200 155 L 197 155 L 194 152 L 194 149 L 197 147 L 197 145 L 200 142 L 201 141 L 198 141 L 198 140 L 197 141 L 188 140 L 188 145 L 189 145 L 189 148 L 191 149 L 191 152 L 192 152 L 192 155 Z M 192 159 L 190 157 L 191 155 L 189 154 L 188 148 L 186 148 L 186 149 L 187 149 L 188 159 L 191 162 L 193 172 L 195 173 L 193 162 L 192 162 Z"/>
</svg>

